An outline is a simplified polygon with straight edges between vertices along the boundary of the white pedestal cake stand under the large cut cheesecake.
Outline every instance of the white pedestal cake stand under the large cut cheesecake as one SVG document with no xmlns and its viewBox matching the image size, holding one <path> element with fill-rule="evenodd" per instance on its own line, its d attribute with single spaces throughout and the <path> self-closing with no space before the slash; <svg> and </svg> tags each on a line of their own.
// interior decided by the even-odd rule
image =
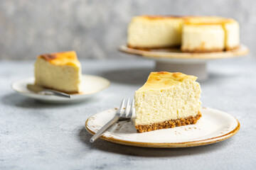
<svg viewBox="0 0 256 170">
<path fill-rule="evenodd" d="M 181 50 L 176 48 L 137 50 L 127 47 L 127 45 L 120 46 L 119 50 L 132 55 L 139 55 L 147 59 L 155 60 L 156 72 L 182 72 L 198 77 L 199 81 L 208 79 L 208 72 L 206 69 L 208 61 L 239 57 L 247 55 L 249 52 L 245 45 L 240 45 L 236 50 L 205 53 L 181 52 Z"/>
</svg>

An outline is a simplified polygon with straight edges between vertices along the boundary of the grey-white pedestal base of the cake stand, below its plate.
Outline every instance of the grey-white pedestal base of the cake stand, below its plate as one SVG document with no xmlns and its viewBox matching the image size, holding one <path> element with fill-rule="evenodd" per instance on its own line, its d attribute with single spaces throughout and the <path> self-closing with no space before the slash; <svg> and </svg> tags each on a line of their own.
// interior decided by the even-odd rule
<svg viewBox="0 0 256 170">
<path fill-rule="evenodd" d="M 208 79 L 206 62 L 203 63 L 174 63 L 156 61 L 156 72 L 181 72 L 198 77 L 198 81 Z"/>
</svg>

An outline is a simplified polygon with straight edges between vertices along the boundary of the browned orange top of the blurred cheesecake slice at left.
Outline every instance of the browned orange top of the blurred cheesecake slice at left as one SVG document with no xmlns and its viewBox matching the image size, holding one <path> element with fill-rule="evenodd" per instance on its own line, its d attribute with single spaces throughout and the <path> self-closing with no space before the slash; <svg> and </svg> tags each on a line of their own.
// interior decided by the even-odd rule
<svg viewBox="0 0 256 170">
<path fill-rule="evenodd" d="M 39 55 L 38 58 L 46 60 L 51 64 L 56 65 L 73 65 L 79 66 L 80 62 L 78 61 L 78 57 L 75 51 L 68 51 L 68 52 L 55 52 L 51 54 L 43 54 Z"/>
</svg>

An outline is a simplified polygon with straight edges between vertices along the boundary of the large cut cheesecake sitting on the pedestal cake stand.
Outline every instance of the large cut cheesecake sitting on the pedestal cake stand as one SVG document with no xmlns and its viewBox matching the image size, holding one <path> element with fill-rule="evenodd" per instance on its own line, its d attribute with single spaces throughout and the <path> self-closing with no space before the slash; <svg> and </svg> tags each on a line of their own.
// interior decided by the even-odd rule
<svg viewBox="0 0 256 170">
<path fill-rule="evenodd" d="M 135 49 L 181 47 L 182 52 L 219 52 L 240 45 L 239 24 L 218 16 L 135 16 L 127 30 Z"/>
</svg>

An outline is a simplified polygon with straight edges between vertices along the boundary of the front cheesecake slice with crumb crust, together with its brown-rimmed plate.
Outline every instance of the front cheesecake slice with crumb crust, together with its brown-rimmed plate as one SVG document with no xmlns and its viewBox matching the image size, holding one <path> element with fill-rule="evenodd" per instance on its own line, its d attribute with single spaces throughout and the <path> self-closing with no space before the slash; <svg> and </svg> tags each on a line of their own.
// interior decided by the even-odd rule
<svg viewBox="0 0 256 170">
<path fill-rule="evenodd" d="M 151 72 L 135 92 L 132 121 L 120 121 L 102 135 L 107 140 L 137 147 L 195 147 L 232 137 L 240 123 L 228 113 L 201 108 L 196 77 L 182 73 Z M 92 115 L 85 128 L 95 134 L 117 109 Z"/>
</svg>

